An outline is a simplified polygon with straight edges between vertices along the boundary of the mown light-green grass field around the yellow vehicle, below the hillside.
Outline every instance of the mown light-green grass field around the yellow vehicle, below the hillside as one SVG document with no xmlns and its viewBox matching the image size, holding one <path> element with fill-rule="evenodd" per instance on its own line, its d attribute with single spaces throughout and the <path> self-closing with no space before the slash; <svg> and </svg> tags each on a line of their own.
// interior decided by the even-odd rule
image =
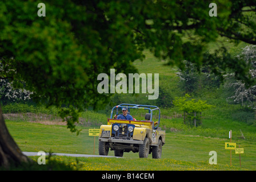
<svg viewBox="0 0 256 182">
<path fill-rule="evenodd" d="M 52 122 L 53 124 L 54 122 Z M 22 151 L 62 152 L 71 154 L 93 154 L 94 137 L 88 136 L 87 127 L 81 134 L 70 133 L 66 126 L 45 125 L 42 123 L 6 121 L 7 127 Z M 228 133 L 228 131 L 227 131 Z M 98 138 L 95 142 L 95 154 L 98 155 Z M 187 135 L 182 132 L 167 132 L 166 144 L 163 146 L 162 158 L 139 159 L 138 153 L 125 153 L 123 158 L 71 158 L 52 156 L 55 160 L 70 165 L 70 169 L 78 170 L 255 170 L 256 142 L 233 140 L 245 148 L 241 156 L 242 167 L 239 166 L 239 155 L 225 150 L 228 138 L 212 138 L 200 135 Z M 210 151 L 217 152 L 217 165 L 210 165 Z M 110 151 L 109 155 L 114 156 Z M 31 157 L 37 161 L 37 156 Z M 46 162 L 47 163 L 47 162 Z M 43 165 L 42 165 L 43 166 Z"/>
</svg>

